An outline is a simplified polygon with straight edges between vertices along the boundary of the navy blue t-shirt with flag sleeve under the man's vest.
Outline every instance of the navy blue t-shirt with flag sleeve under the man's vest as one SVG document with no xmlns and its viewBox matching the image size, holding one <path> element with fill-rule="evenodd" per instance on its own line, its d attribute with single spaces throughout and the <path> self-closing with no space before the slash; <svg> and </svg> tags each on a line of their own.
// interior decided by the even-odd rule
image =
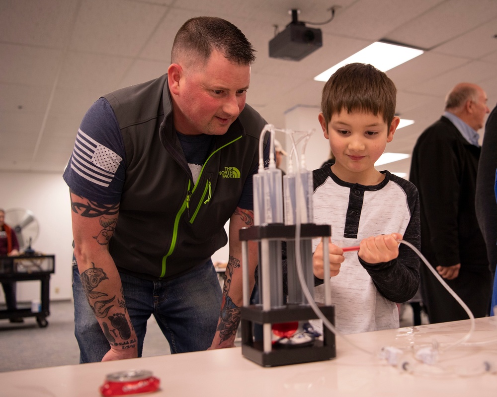
<svg viewBox="0 0 497 397">
<path fill-rule="evenodd" d="M 178 133 L 183 153 L 196 182 L 207 158 L 213 136 Z M 264 149 L 264 163 L 268 163 L 269 145 Z M 198 170 L 198 171 L 197 171 Z M 252 175 L 245 181 L 238 206 L 253 209 Z M 76 136 L 73 153 L 64 171 L 64 180 L 76 194 L 100 204 L 116 204 L 126 175 L 124 142 L 119 124 L 109 102 L 98 99 L 86 112 Z"/>
</svg>

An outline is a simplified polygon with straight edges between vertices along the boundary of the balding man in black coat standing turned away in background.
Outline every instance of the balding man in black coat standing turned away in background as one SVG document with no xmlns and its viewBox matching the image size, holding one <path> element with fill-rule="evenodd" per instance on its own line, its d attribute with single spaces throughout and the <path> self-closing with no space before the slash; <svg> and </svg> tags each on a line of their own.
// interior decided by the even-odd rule
<svg viewBox="0 0 497 397">
<path fill-rule="evenodd" d="M 439 121 L 418 138 L 410 180 L 419 191 L 421 252 L 475 317 L 488 313 L 491 274 L 475 214 L 479 135 L 489 113 L 487 95 L 475 84 L 457 84 Z M 422 265 L 421 295 L 429 321 L 467 319 L 461 305 Z"/>
</svg>

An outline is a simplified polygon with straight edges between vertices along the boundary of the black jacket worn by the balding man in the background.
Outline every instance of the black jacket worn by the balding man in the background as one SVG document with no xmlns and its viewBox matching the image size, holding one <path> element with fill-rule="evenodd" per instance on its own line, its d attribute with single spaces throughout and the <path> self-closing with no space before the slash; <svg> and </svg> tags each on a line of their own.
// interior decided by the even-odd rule
<svg viewBox="0 0 497 397">
<path fill-rule="evenodd" d="M 443 116 L 414 146 L 410 180 L 419 191 L 421 252 L 433 266 L 489 267 L 475 212 L 480 152 Z"/>
</svg>

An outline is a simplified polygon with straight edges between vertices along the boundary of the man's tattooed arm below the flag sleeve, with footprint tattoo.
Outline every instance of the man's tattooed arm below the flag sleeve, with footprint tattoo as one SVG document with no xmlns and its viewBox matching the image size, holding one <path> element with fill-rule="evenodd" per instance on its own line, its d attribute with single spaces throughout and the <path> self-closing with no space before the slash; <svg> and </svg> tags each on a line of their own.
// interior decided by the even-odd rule
<svg viewBox="0 0 497 397">
<path fill-rule="evenodd" d="M 81 283 L 110 345 L 102 361 L 137 357 L 136 333 L 121 278 L 108 249 L 119 217 L 119 203 L 99 204 L 71 192 L 71 209 Z"/>
</svg>

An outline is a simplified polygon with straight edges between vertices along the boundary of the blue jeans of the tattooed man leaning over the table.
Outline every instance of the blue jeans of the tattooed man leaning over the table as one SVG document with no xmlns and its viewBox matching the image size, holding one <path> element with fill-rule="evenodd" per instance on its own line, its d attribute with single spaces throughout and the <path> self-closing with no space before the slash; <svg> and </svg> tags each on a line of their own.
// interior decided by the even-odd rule
<svg viewBox="0 0 497 397">
<path fill-rule="evenodd" d="M 206 350 L 214 338 L 222 291 L 212 261 L 172 280 L 149 281 L 120 272 L 126 307 L 142 356 L 147 320 L 153 314 L 171 353 Z M 110 349 L 93 314 L 73 262 L 75 335 L 80 363 L 101 361 Z"/>
</svg>

